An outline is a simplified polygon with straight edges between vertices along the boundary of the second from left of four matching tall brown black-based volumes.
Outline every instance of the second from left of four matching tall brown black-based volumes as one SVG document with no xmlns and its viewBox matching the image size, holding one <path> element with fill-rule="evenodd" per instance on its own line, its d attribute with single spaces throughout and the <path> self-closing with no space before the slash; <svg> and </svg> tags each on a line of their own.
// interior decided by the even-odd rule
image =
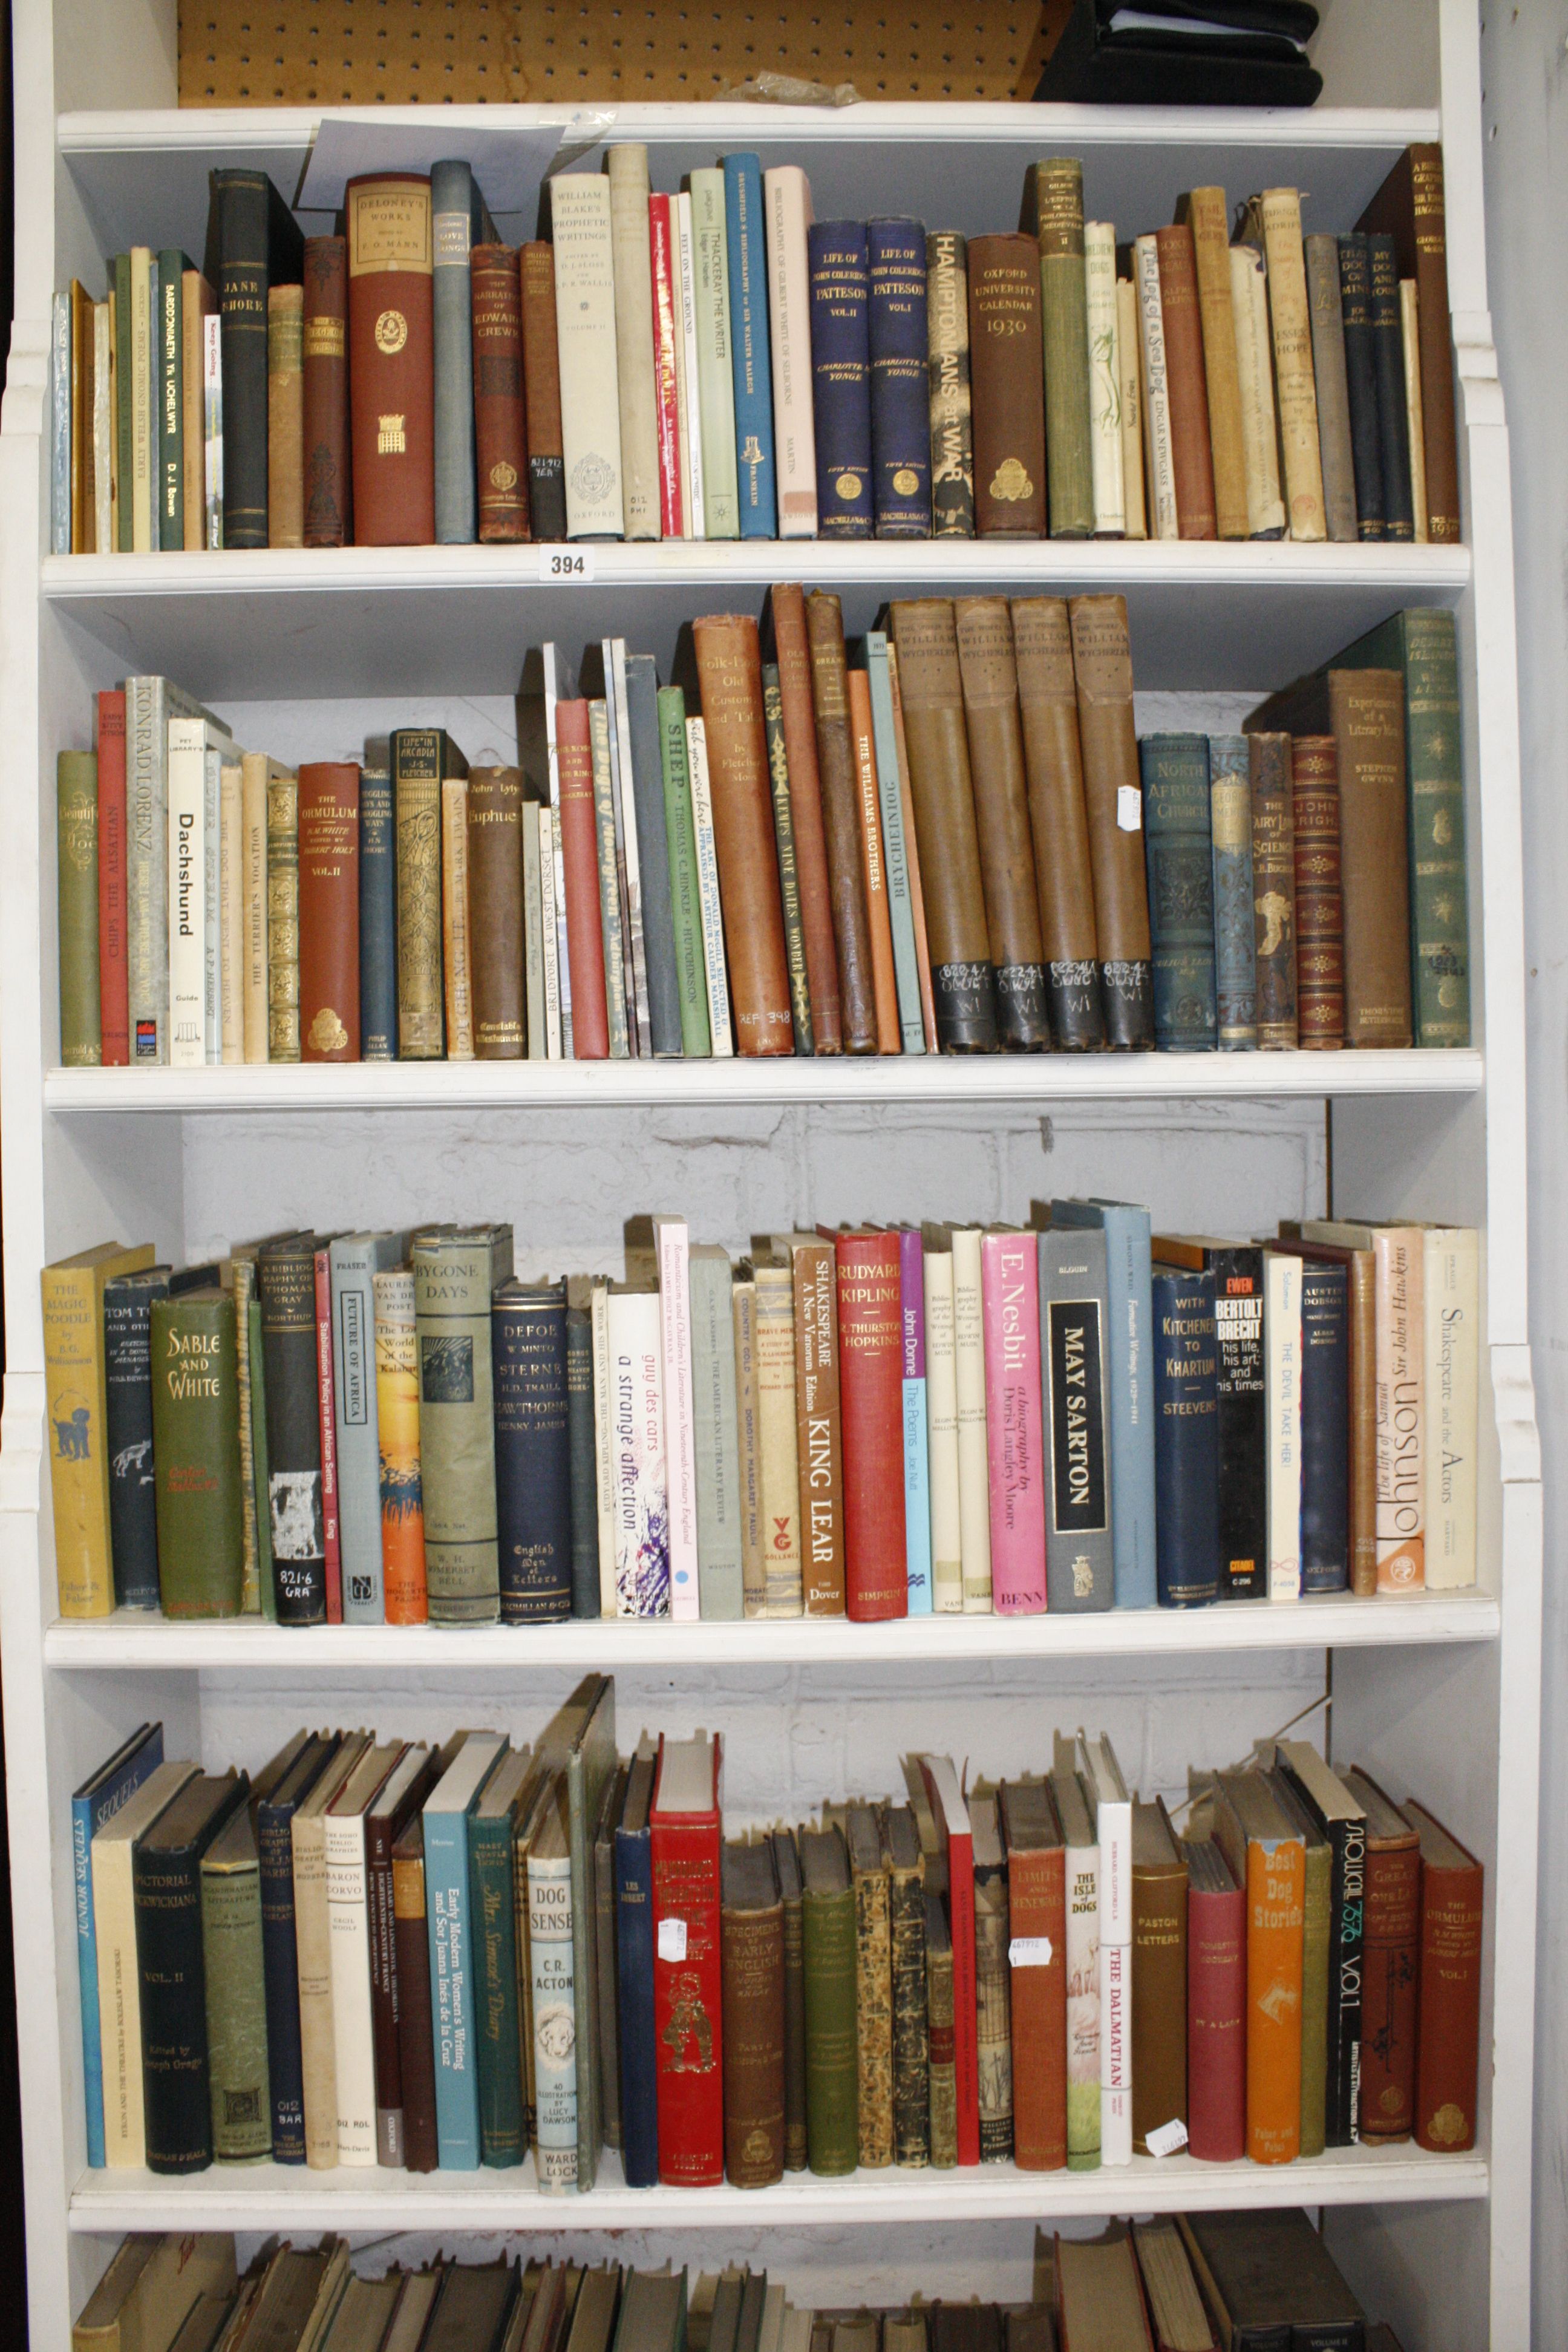
<svg viewBox="0 0 1568 2352">
<path fill-rule="evenodd" d="M 1051 1047 L 1051 1014 L 1006 597 L 959 597 L 952 626 L 976 790 L 985 924 L 997 967 L 997 1037 L 1013 1054 L 1044 1054 Z"/>
</svg>

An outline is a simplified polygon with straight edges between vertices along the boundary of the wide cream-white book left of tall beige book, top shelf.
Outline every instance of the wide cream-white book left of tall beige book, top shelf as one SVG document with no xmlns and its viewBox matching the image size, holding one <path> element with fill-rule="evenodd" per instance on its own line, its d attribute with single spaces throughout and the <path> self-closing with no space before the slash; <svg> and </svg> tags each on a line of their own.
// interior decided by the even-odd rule
<svg viewBox="0 0 1568 2352">
<path fill-rule="evenodd" d="M 609 226 L 609 181 L 604 174 L 559 172 L 550 181 L 550 226 L 555 245 L 555 339 L 562 379 L 567 539 L 621 539 L 628 536 L 628 527 L 621 496 L 616 263 Z M 642 247 L 646 256 L 646 223 Z M 651 365 L 649 327 L 649 379 Z M 658 475 L 654 475 L 651 513 L 651 529 L 637 529 L 630 536 L 658 536 Z"/>
</svg>

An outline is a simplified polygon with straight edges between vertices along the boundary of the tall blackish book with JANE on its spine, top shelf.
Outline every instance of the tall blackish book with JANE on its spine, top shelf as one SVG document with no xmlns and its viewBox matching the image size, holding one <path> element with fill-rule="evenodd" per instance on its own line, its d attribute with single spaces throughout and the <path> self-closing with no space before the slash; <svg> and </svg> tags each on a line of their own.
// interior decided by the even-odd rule
<svg viewBox="0 0 1568 2352">
<path fill-rule="evenodd" d="M 202 275 L 219 292 L 221 318 L 223 546 L 266 548 L 268 289 L 301 282 L 306 249 L 266 172 L 212 172 L 209 188 Z M 122 414 L 125 407 L 122 400 Z M 129 539 L 122 536 L 122 546 Z"/>
</svg>

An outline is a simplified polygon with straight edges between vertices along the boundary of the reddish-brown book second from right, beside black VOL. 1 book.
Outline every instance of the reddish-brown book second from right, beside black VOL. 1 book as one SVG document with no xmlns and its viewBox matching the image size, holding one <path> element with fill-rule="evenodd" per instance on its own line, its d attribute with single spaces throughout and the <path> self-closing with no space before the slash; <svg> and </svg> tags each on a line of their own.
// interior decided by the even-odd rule
<svg viewBox="0 0 1568 2352">
<path fill-rule="evenodd" d="M 1420 1830 L 1361 1766 L 1340 1778 L 1366 1813 L 1361 2138 L 1408 2140 L 1420 2018 Z"/>
</svg>

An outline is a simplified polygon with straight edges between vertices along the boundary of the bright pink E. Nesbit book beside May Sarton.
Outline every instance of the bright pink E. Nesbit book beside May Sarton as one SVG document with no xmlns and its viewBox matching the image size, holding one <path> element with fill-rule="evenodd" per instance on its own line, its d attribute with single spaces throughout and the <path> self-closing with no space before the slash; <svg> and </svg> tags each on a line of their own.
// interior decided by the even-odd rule
<svg viewBox="0 0 1568 2352">
<path fill-rule="evenodd" d="M 992 1606 L 1046 1606 L 1046 1482 L 1039 1388 L 1039 1254 L 1032 1232 L 980 1240 L 985 1322 L 985 1449 L 992 1517 Z"/>
</svg>

